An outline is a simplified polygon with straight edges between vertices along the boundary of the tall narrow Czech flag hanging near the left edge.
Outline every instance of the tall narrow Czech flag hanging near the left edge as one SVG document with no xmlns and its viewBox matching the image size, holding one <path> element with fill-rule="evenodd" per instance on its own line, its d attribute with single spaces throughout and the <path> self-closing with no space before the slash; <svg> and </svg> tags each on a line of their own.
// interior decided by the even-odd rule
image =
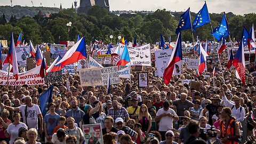
<svg viewBox="0 0 256 144">
<path fill-rule="evenodd" d="M 15 52 L 13 33 L 11 33 L 10 48 L 9 48 L 9 51 L 7 53 L 7 57 L 4 60 L 3 64 L 4 63 L 10 63 L 10 65 L 12 65 L 12 73 L 13 73 L 13 76 L 15 77 L 16 81 L 17 81 L 18 80 L 19 68 L 18 68 L 17 55 L 16 55 L 16 52 Z"/>
</svg>

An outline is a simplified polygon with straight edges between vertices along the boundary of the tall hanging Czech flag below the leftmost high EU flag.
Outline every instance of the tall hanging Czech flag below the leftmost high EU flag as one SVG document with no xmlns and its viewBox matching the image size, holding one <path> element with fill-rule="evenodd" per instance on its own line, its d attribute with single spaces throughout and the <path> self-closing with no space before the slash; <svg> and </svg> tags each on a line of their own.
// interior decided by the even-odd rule
<svg viewBox="0 0 256 144">
<path fill-rule="evenodd" d="M 176 45 L 173 49 L 171 58 L 169 60 L 168 66 L 164 70 L 164 82 L 169 84 L 172 78 L 175 63 L 182 61 L 182 47 L 181 47 L 181 34 L 178 34 L 178 39 Z"/>
</svg>

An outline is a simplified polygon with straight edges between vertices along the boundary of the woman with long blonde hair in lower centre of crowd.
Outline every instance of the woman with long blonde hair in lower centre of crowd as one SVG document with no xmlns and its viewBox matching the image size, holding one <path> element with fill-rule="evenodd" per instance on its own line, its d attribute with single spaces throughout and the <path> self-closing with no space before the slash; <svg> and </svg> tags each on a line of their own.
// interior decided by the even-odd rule
<svg viewBox="0 0 256 144">
<path fill-rule="evenodd" d="M 141 105 L 137 123 L 141 124 L 141 131 L 147 135 L 151 129 L 152 117 L 148 113 L 148 107 L 144 104 Z"/>
</svg>

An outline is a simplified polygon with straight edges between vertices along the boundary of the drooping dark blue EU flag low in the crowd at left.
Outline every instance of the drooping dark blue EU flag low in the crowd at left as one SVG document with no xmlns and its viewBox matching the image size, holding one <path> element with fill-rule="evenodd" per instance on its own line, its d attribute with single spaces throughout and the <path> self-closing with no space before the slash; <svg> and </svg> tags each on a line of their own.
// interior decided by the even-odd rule
<svg viewBox="0 0 256 144">
<path fill-rule="evenodd" d="M 49 110 L 49 103 L 52 102 L 52 89 L 53 85 L 51 85 L 48 90 L 46 90 L 42 95 L 39 96 L 39 103 L 43 117 Z"/>
</svg>

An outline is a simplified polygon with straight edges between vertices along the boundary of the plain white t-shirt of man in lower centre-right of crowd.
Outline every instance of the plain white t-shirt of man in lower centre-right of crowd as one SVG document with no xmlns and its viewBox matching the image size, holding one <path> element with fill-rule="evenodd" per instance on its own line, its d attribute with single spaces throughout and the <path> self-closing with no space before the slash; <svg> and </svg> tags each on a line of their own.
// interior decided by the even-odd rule
<svg viewBox="0 0 256 144">
<path fill-rule="evenodd" d="M 162 114 L 172 114 L 174 116 L 177 116 L 177 114 L 175 113 L 175 111 L 171 108 L 169 108 L 169 110 L 165 111 L 164 108 L 161 108 L 157 111 L 156 116 L 162 115 Z M 172 130 L 172 123 L 173 123 L 173 118 L 170 116 L 164 116 L 161 117 L 160 121 L 159 121 L 159 131 L 169 131 Z"/>
</svg>

